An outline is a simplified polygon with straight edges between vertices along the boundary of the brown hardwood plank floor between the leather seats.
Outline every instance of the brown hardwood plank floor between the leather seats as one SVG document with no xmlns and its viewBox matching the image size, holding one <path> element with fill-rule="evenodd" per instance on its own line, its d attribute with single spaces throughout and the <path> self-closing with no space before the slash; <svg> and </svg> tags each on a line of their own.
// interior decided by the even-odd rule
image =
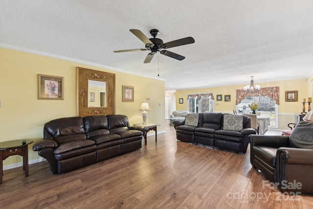
<svg viewBox="0 0 313 209">
<path fill-rule="evenodd" d="M 134 152 L 52 175 L 46 162 L 4 171 L 0 208 L 285 209 L 313 208 L 313 195 L 293 197 L 263 186 L 249 147 L 236 154 L 176 139 L 173 126 Z M 264 188 L 263 188 L 264 187 Z"/>
</svg>

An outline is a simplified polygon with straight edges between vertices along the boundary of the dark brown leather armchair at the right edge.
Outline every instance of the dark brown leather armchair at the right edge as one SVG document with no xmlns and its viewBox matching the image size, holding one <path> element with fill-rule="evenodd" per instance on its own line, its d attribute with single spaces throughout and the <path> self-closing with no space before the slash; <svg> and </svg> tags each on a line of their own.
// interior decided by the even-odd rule
<svg viewBox="0 0 313 209">
<path fill-rule="evenodd" d="M 250 135 L 250 162 L 277 188 L 313 193 L 313 123 L 299 121 L 290 136 Z M 301 184 L 301 186 L 300 186 Z"/>
</svg>

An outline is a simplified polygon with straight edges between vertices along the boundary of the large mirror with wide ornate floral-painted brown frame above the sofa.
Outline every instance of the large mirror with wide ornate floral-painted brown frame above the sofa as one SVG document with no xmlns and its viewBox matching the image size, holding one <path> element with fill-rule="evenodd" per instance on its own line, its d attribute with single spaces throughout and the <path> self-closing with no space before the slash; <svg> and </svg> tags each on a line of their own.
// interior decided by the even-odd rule
<svg viewBox="0 0 313 209">
<path fill-rule="evenodd" d="M 79 67 L 76 71 L 77 116 L 115 114 L 115 74 Z M 92 87 L 91 83 L 102 83 L 103 88 L 98 90 L 98 87 Z M 100 99 L 100 95 L 105 95 L 105 98 Z M 100 100 L 104 102 L 97 102 Z"/>
</svg>

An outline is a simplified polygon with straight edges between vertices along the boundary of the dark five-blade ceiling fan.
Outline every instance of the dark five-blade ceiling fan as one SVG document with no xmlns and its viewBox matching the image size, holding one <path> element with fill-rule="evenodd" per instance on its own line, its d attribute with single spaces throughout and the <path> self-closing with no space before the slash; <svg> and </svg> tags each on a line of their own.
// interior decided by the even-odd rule
<svg viewBox="0 0 313 209">
<path fill-rule="evenodd" d="M 182 45 L 195 43 L 195 40 L 192 37 L 187 37 L 187 38 L 178 39 L 178 40 L 167 42 L 167 43 L 163 44 L 163 41 L 161 39 L 156 38 L 156 36 L 158 35 L 157 29 L 150 30 L 150 34 L 153 36 L 153 38 L 151 38 L 151 39 L 149 39 L 147 36 L 145 36 L 140 30 L 130 29 L 130 31 L 145 44 L 145 48 L 118 50 L 118 51 L 114 51 L 114 52 L 151 50 L 151 52 L 149 52 L 148 55 L 146 56 L 146 59 L 143 63 L 150 63 L 153 56 L 158 51 L 160 52 L 160 54 L 163 54 L 165 56 L 172 57 L 172 58 L 177 59 L 177 60 L 183 60 L 183 59 L 185 59 L 184 56 L 181 56 L 179 54 L 176 54 L 174 52 L 171 52 L 171 51 L 168 51 L 165 49 L 172 48 L 175 46 L 182 46 Z"/>
</svg>

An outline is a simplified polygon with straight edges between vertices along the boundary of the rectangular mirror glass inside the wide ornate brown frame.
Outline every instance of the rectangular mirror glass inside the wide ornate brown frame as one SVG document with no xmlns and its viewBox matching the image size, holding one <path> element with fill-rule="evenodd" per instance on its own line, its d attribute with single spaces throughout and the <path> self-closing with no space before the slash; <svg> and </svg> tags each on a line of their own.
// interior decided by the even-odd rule
<svg viewBox="0 0 313 209">
<path fill-rule="evenodd" d="M 88 107 L 107 107 L 107 82 L 88 80 Z"/>
</svg>

